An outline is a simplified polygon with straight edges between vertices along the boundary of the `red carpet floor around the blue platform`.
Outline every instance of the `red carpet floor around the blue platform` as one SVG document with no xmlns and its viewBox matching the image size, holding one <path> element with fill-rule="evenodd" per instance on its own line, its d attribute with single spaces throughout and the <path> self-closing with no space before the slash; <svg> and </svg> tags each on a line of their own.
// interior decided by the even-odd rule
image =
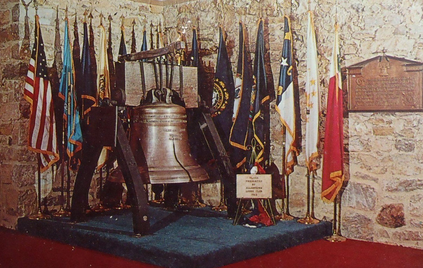
<svg viewBox="0 0 423 268">
<path fill-rule="evenodd" d="M 0 228 L 0 268 L 158 268 Z M 423 250 L 380 243 L 319 240 L 225 268 L 423 268 Z"/>
</svg>

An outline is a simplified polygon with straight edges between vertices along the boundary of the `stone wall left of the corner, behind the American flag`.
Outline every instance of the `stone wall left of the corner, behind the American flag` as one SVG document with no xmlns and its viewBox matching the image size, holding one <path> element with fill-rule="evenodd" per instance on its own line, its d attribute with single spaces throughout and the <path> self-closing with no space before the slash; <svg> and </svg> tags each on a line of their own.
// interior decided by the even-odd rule
<svg viewBox="0 0 423 268">
<path fill-rule="evenodd" d="M 27 0 L 26 2 L 29 2 Z M 65 9 L 68 6 L 71 35 L 73 43 L 73 23 L 75 12 L 80 33 L 80 46 L 82 47 L 82 15 L 87 9 L 93 13 L 94 45 L 99 47 L 100 23 L 99 14 L 102 12 L 106 18 L 113 16 L 112 43 L 113 55 L 117 60 L 121 19 L 125 16 L 126 46 L 130 51 L 132 22 L 135 19 L 135 37 L 137 49 L 142 43 L 142 30 L 144 18 L 153 23 L 154 29 L 160 21 L 163 22 L 163 7 L 146 5 L 133 1 L 58 1 L 39 0 L 38 15 L 40 17 L 41 32 L 47 57 L 47 65 L 52 66 L 54 59 L 54 38 L 56 8 L 59 9 L 60 42 L 63 46 Z M 28 18 L 28 28 L 25 29 L 25 15 Z M 25 118 L 27 102 L 22 98 L 25 77 L 30 58 L 30 49 L 33 46 L 35 8 L 33 3 L 27 8 L 22 2 L 0 2 L 0 225 L 14 228 L 18 217 L 29 215 L 37 210 L 37 185 L 36 182 L 36 154 L 27 150 L 28 120 Z M 108 20 L 104 21 L 108 27 Z M 154 32 L 155 33 L 155 32 Z M 98 53 L 98 50 L 97 50 Z M 27 117 L 27 116 L 26 116 Z M 42 173 L 42 197 L 47 197 L 49 209 L 58 209 L 60 196 L 60 167 L 55 175 L 51 171 Z M 76 174 L 71 174 L 72 188 Z M 54 177 L 54 179 L 52 179 Z M 90 204 L 98 202 L 96 189 L 99 185 L 99 175 L 94 176 Z M 66 184 L 65 184 L 66 186 Z"/>
</svg>

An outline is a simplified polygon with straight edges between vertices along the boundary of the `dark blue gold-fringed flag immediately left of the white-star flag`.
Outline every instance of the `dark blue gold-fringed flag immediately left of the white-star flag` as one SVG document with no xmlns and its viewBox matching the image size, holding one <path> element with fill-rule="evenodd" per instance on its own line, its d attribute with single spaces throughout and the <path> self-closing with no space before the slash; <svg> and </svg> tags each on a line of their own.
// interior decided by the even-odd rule
<svg viewBox="0 0 423 268">
<path fill-rule="evenodd" d="M 250 99 L 250 116 L 253 126 L 253 136 L 260 145 L 257 153 L 257 162 L 263 163 L 268 160 L 265 153 L 265 145 L 270 145 L 270 121 L 268 103 L 270 101 L 269 88 L 267 87 L 264 28 L 263 19 L 258 22 L 257 39 L 255 42 L 255 57 L 253 67 L 253 85 Z M 251 142 L 251 139 L 248 140 Z M 262 164 L 263 165 L 263 164 Z"/>
</svg>

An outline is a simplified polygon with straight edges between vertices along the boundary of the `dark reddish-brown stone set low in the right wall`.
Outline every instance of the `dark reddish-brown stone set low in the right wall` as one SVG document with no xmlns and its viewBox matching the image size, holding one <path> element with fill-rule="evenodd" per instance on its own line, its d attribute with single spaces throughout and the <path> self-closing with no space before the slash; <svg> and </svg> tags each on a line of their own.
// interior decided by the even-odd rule
<svg viewBox="0 0 423 268">
<path fill-rule="evenodd" d="M 398 228 L 405 225 L 404 204 L 385 204 L 376 217 L 376 222 L 382 226 Z"/>
</svg>

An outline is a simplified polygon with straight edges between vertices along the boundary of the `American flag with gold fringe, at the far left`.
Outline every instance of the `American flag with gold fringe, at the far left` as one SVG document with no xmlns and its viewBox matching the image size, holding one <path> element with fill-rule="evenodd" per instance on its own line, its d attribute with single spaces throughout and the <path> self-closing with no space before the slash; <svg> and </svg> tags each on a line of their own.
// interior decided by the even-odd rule
<svg viewBox="0 0 423 268">
<path fill-rule="evenodd" d="M 28 149 L 41 154 L 41 172 L 59 160 L 52 90 L 40 22 L 35 16 L 35 42 L 26 77 L 24 98 L 31 104 Z"/>
</svg>

